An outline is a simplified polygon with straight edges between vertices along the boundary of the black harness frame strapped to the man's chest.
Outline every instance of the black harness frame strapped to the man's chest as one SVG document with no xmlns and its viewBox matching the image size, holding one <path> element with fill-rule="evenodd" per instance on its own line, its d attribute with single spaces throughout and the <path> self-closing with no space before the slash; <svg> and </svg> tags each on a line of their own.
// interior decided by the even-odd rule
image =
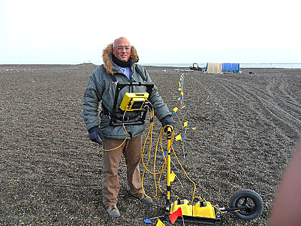
<svg viewBox="0 0 301 226">
<path fill-rule="evenodd" d="M 142 78 L 142 80 L 144 81 L 144 84 L 142 84 L 141 82 L 137 83 L 137 82 L 133 82 L 132 79 L 130 80 L 130 82 L 119 82 L 117 79 L 116 79 L 116 75 L 112 75 L 112 80 L 114 83 L 117 84 L 117 88 L 116 88 L 116 93 L 115 93 L 115 99 L 114 99 L 114 106 L 113 106 L 113 112 L 109 112 L 109 110 L 107 110 L 103 105 L 101 106 L 101 108 L 103 109 L 101 111 L 101 114 L 104 114 L 105 116 L 107 116 L 108 118 L 110 118 L 110 125 L 111 126 L 118 126 L 118 125 L 142 125 L 144 124 L 144 120 L 145 120 L 145 115 L 146 115 L 146 111 L 144 111 L 144 114 L 143 116 L 141 117 L 141 114 L 140 114 L 140 118 L 138 118 L 138 116 L 131 116 L 131 117 L 125 117 L 125 118 L 122 118 L 122 117 L 116 117 L 115 116 L 115 110 L 116 110 L 116 103 L 117 103 L 117 99 L 118 99 L 118 95 L 119 95 L 119 91 L 124 88 L 125 86 L 146 86 L 147 88 L 147 92 L 149 93 L 149 97 L 150 98 L 150 95 L 151 95 L 151 92 L 153 90 L 153 86 L 154 84 L 153 83 L 148 83 L 147 82 L 147 79 L 146 77 L 144 76 L 144 74 L 142 73 L 142 71 L 140 70 L 140 68 L 138 67 L 138 65 L 136 64 L 135 65 L 135 70 L 138 72 L 138 74 L 140 75 L 140 77 Z M 141 112 L 142 113 L 142 112 Z M 138 118 L 138 120 L 137 120 Z M 117 122 L 117 121 L 121 121 L 120 122 Z M 125 121 L 133 121 L 131 123 L 125 123 Z M 139 123 L 138 123 L 139 122 Z"/>
</svg>

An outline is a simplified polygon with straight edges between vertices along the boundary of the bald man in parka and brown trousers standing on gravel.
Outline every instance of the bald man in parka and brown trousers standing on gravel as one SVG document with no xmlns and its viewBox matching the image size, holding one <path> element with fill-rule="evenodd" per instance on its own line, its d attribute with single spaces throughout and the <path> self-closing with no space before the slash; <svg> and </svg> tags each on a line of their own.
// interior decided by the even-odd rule
<svg viewBox="0 0 301 226">
<path fill-rule="evenodd" d="M 121 155 L 125 157 L 127 164 L 127 181 L 133 197 L 150 204 L 152 199 L 145 197 L 142 191 L 139 163 L 141 159 L 142 133 L 145 125 L 127 125 L 127 136 L 122 126 L 110 126 L 110 113 L 113 109 L 116 80 L 123 82 L 152 82 L 145 68 L 138 62 L 138 54 L 135 47 L 131 46 L 127 38 L 117 38 L 113 44 L 109 44 L 103 50 L 103 62 L 90 76 L 88 88 L 83 99 L 83 120 L 88 129 L 88 137 L 93 142 L 103 145 L 103 149 L 112 151 L 103 152 L 103 205 L 111 217 L 120 216 L 116 206 L 120 189 L 118 179 L 118 166 Z M 142 75 L 140 75 L 142 73 Z M 144 81 L 146 79 L 146 81 Z M 131 92 L 145 92 L 145 87 L 131 87 Z M 123 97 L 125 90 L 120 91 Z M 162 126 L 172 125 L 174 121 L 167 105 L 162 101 L 157 87 L 154 86 L 150 95 L 150 103 L 155 110 L 155 116 Z M 99 103 L 102 112 L 99 122 Z M 118 105 L 120 103 L 118 102 Z M 116 116 L 122 118 L 124 112 L 118 110 Z M 127 112 L 128 120 L 138 117 L 137 112 Z M 122 142 L 127 138 L 127 141 Z M 119 147 L 120 146 L 120 147 Z M 116 149 L 116 147 L 118 147 Z"/>
</svg>

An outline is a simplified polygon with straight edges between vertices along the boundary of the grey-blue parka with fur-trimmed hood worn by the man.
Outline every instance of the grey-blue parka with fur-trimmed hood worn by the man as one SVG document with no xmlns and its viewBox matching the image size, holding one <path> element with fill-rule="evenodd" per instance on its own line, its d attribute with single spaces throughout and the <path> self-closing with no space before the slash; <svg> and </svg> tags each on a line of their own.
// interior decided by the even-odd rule
<svg viewBox="0 0 301 226">
<path fill-rule="evenodd" d="M 120 71 L 120 68 L 112 62 L 112 47 L 113 45 L 108 45 L 103 50 L 103 62 L 101 66 L 97 67 L 95 71 L 90 76 L 88 82 L 88 88 L 83 97 L 83 121 L 86 123 L 86 129 L 90 129 L 94 126 L 100 125 L 101 132 L 106 138 L 116 138 L 124 139 L 126 137 L 126 131 L 122 126 L 109 126 L 110 118 L 105 114 L 101 114 L 101 123 L 99 123 L 99 103 L 101 103 L 102 108 L 105 108 L 109 112 L 112 112 L 114 97 L 116 91 L 116 83 L 112 79 L 112 75 L 116 76 L 117 81 L 129 82 L 127 75 Z M 131 47 L 131 79 L 133 82 L 144 82 L 139 73 L 135 70 L 136 62 L 138 62 L 138 54 L 135 50 L 135 47 Z M 144 74 L 147 82 L 152 82 L 147 71 L 143 66 L 137 64 L 140 68 L 140 71 Z M 120 106 L 122 98 L 125 95 L 125 92 L 146 92 L 145 86 L 133 86 L 125 87 L 120 90 L 117 106 Z M 153 92 L 150 96 L 150 103 L 153 105 L 155 110 L 155 116 L 159 121 L 167 116 L 171 115 L 168 107 L 163 103 L 161 96 L 157 90 L 157 86 L 154 86 Z M 116 112 L 118 118 L 122 118 L 123 113 L 121 110 Z M 133 118 L 135 117 L 136 112 L 127 112 L 126 116 Z M 138 116 L 138 115 L 137 115 Z M 130 138 L 129 134 L 132 137 L 142 135 L 144 131 L 144 125 L 127 125 L 126 129 L 128 131 L 127 138 Z"/>
</svg>

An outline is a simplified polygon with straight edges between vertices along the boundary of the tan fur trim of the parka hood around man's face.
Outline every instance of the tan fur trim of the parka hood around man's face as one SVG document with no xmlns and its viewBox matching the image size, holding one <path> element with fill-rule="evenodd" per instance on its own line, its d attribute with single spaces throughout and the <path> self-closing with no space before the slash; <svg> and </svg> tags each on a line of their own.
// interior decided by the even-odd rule
<svg viewBox="0 0 301 226">
<path fill-rule="evenodd" d="M 113 75 L 113 65 L 112 65 L 112 54 L 113 54 L 113 43 L 107 45 L 105 49 L 103 49 L 103 66 L 107 70 L 107 73 Z M 137 63 L 139 60 L 139 56 L 135 47 L 131 46 L 131 60 L 133 63 Z"/>
</svg>

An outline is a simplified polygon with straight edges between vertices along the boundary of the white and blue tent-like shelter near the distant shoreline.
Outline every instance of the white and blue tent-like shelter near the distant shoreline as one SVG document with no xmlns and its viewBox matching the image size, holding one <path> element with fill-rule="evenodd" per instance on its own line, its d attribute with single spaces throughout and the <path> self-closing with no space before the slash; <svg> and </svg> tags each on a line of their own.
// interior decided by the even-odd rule
<svg viewBox="0 0 301 226">
<path fill-rule="evenodd" d="M 208 62 L 206 72 L 211 74 L 239 73 L 239 64 Z"/>
</svg>

